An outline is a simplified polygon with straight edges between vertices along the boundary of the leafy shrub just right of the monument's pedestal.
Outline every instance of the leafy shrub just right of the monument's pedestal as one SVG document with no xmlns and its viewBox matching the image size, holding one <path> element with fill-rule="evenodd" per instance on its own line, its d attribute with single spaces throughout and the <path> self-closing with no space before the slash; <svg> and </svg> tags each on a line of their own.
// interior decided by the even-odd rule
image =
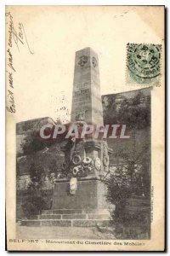
<svg viewBox="0 0 170 256">
<path fill-rule="evenodd" d="M 141 145 L 140 145 L 141 146 Z M 140 150 L 139 150 L 140 149 Z M 112 204 L 133 195 L 150 195 L 150 156 L 148 144 L 143 143 L 140 148 L 117 152 L 123 162 L 117 162 L 115 171 L 105 179 L 107 186 L 107 200 Z"/>
</svg>

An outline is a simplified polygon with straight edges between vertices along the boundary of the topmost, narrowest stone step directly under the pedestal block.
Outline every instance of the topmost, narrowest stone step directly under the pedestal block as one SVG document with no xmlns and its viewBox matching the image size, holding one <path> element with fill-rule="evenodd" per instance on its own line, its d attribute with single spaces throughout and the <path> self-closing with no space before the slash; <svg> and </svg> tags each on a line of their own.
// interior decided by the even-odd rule
<svg viewBox="0 0 170 256">
<path fill-rule="evenodd" d="M 86 214 L 86 213 L 100 213 L 108 214 L 108 209 L 53 209 L 53 210 L 42 210 L 42 214 Z"/>
</svg>

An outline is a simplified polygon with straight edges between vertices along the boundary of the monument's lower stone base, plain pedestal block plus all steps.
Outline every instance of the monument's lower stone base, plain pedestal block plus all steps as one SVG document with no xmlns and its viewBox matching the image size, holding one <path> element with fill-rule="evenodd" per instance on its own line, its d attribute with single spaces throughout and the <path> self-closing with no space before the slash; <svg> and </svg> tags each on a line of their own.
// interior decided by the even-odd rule
<svg viewBox="0 0 170 256">
<path fill-rule="evenodd" d="M 77 181 L 77 193 L 70 194 L 70 181 L 54 184 L 51 210 L 22 219 L 24 226 L 94 227 L 109 226 L 110 213 L 105 201 L 105 185 L 100 180 Z"/>
</svg>

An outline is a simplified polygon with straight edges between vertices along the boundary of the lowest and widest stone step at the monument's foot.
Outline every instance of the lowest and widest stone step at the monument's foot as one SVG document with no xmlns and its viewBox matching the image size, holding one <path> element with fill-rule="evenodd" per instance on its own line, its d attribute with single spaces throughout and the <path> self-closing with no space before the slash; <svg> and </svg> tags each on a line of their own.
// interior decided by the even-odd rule
<svg viewBox="0 0 170 256">
<path fill-rule="evenodd" d="M 59 219 L 59 220 L 49 220 L 49 219 L 28 219 L 22 220 L 21 226 L 59 226 L 59 227 L 94 227 L 99 225 L 100 227 L 105 227 L 110 225 L 108 219 Z"/>
</svg>

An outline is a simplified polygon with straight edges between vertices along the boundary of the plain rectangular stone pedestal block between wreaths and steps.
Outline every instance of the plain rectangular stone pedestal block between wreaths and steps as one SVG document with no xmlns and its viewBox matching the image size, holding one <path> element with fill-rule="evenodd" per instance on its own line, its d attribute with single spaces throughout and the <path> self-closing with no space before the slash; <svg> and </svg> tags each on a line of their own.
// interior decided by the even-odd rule
<svg viewBox="0 0 170 256">
<path fill-rule="evenodd" d="M 105 185 L 99 180 L 77 181 L 77 192 L 70 194 L 70 182 L 54 184 L 52 209 L 102 209 L 107 208 Z"/>
</svg>

